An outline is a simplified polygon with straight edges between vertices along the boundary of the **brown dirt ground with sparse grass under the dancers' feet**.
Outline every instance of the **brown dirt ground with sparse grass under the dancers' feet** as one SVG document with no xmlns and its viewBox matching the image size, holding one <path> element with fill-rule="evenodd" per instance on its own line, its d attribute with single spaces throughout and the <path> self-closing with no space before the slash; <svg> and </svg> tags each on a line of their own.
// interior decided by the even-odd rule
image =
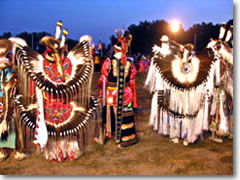
<svg viewBox="0 0 240 180">
<path fill-rule="evenodd" d="M 97 95 L 94 73 L 92 93 Z M 118 148 L 113 140 L 105 145 L 94 145 L 80 159 L 50 162 L 34 152 L 28 159 L 16 161 L 13 153 L 0 162 L 2 175 L 233 175 L 233 140 L 222 144 L 203 140 L 185 147 L 174 144 L 168 137 L 157 134 L 149 127 L 151 95 L 143 88 L 146 74 L 138 73 L 136 129 L 139 142 L 127 148 Z"/>
</svg>

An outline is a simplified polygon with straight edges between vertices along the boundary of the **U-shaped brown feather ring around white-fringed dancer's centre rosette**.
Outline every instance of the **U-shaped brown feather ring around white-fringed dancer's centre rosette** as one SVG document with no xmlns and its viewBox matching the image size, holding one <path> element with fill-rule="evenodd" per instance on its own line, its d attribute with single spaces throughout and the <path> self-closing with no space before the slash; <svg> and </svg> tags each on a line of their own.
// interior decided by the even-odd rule
<svg viewBox="0 0 240 180">
<path fill-rule="evenodd" d="M 174 54 L 169 54 L 165 58 L 159 55 L 155 55 L 153 62 L 156 64 L 160 75 L 162 78 L 167 81 L 171 86 L 176 87 L 177 89 L 190 89 L 193 87 L 197 87 L 204 81 L 206 81 L 209 71 L 211 69 L 211 65 L 214 62 L 214 55 L 211 49 L 205 49 L 200 52 L 194 59 L 193 59 L 193 68 L 195 78 L 190 78 L 188 81 L 185 79 L 188 77 L 187 75 L 181 74 L 181 79 L 178 78 L 180 75 L 180 67 L 175 67 L 173 65 L 181 65 L 181 61 L 178 57 Z M 176 72 L 173 72 L 177 69 Z M 190 81 L 189 81 L 190 80 Z"/>
</svg>

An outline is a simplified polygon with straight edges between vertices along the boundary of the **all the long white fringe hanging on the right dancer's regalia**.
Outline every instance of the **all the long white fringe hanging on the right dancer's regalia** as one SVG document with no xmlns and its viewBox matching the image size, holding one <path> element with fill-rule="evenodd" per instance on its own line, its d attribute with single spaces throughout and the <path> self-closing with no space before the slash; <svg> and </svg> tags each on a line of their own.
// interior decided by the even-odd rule
<svg viewBox="0 0 240 180">
<path fill-rule="evenodd" d="M 208 98 L 213 93 L 213 87 L 214 64 L 211 66 L 209 77 L 205 83 L 196 88 L 181 91 L 168 84 L 161 77 L 159 70 L 152 61 L 145 81 L 145 88 L 154 93 L 149 125 L 152 125 L 158 133 L 169 135 L 170 138 L 177 137 L 185 139 L 189 143 L 195 142 L 204 130 L 208 130 Z M 185 116 L 175 116 L 169 110 L 158 108 L 159 90 L 164 92 L 170 90 L 169 110 Z"/>
</svg>

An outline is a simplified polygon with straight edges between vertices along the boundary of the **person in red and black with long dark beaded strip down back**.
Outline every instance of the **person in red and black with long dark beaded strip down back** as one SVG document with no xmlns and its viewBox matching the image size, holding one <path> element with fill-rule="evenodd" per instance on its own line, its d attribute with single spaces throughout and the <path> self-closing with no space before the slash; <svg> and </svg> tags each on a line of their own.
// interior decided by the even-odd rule
<svg viewBox="0 0 240 180">
<path fill-rule="evenodd" d="M 103 123 L 106 138 L 115 137 L 120 147 L 137 142 L 134 111 L 137 107 L 136 68 L 127 56 L 131 34 L 118 30 L 114 55 L 103 63 L 99 79 L 100 97 L 103 99 Z"/>
</svg>

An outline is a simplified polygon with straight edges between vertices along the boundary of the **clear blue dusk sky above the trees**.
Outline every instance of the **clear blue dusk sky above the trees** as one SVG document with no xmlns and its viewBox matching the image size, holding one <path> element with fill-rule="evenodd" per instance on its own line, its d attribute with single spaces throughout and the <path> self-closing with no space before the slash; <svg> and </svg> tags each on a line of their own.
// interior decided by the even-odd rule
<svg viewBox="0 0 240 180">
<path fill-rule="evenodd" d="M 0 34 L 46 31 L 55 34 L 58 20 L 69 38 L 84 34 L 109 43 L 114 29 L 140 21 L 178 19 L 187 30 L 193 24 L 219 24 L 233 18 L 232 0 L 0 0 Z"/>
</svg>

